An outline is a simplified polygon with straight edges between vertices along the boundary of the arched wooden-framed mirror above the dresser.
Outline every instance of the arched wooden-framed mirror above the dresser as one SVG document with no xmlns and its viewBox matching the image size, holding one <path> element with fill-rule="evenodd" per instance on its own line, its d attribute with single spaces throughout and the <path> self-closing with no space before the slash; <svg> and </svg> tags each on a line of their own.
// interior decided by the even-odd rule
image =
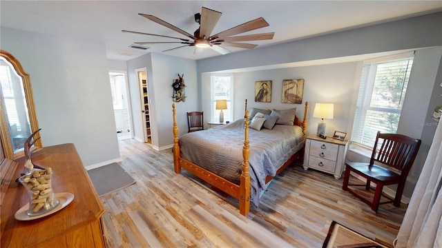
<svg viewBox="0 0 442 248">
<path fill-rule="evenodd" d="M 4 50 L 0 50 L 0 108 L 1 146 L 4 156 L 13 160 L 23 156 L 24 141 L 39 125 L 30 77 Z M 35 147 L 41 147 L 41 140 Z"/>
</svg>

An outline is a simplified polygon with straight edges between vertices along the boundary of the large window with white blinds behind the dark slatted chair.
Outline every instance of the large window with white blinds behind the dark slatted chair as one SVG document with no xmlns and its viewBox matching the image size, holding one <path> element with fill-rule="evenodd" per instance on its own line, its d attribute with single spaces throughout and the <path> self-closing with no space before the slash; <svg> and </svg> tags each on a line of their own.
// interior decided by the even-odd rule
<svg viewBox="0 0 442 248">
<path fill-rule="evenodd" d="M 364 63 L 352 132 L 352 143 L 373 147 L 376 133 L 396 133 L 413 54 Z"/>
</svg>

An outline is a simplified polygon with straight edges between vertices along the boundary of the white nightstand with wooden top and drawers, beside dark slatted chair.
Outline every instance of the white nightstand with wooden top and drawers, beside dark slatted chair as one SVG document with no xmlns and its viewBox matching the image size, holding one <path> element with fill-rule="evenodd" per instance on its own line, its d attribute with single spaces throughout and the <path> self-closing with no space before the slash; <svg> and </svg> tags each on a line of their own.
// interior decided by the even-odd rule
<svg viewBox="0 0 442 248">
<path fill-rule="evenodd" d="M 348 141 L 326 139 L 310 134 L 305 140 L 304 169 L 317 169 L 339 179 L 343 174 Z"/>
</svg>

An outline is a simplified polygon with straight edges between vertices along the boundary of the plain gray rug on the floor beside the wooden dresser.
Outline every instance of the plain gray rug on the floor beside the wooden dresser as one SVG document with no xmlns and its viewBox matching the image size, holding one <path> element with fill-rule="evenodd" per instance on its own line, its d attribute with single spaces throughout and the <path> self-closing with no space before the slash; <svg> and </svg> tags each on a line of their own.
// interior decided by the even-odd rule
<svg viewBox="0 0 442 248">
<path fill-rule="evenodd" d="M 104 196 L 135 183 L 132 176 L 118 163 L 90 169 L 88 174 L 99 196 Z"/>
</svg>

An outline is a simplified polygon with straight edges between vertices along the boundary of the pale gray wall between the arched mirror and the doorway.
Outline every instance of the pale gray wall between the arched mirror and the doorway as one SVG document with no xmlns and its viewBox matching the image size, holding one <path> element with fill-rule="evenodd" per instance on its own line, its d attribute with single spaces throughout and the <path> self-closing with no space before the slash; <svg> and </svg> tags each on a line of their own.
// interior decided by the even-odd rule
<svg viewBox="0 0 442 248">
<path fill-rule="evenodd" d="M 85 166 L 119 160 L 104 45 L 1 27 L 30 74 L 44 146 L 74 143 Z"/>
</svg>

